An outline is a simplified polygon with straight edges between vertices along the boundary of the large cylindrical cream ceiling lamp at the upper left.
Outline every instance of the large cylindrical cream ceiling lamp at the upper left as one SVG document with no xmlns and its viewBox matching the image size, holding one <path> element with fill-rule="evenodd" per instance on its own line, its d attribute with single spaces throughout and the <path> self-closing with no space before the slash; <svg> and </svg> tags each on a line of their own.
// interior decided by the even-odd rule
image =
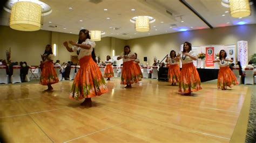
<svg viewBox="0 0 256 143">
<path fill-rule="evenodd" d="M 20 31 L 37 31 L 41 27 L 41 5 L 29 1 L 16 2 L 11 8 L 10 27 Z"/>
</svg>

